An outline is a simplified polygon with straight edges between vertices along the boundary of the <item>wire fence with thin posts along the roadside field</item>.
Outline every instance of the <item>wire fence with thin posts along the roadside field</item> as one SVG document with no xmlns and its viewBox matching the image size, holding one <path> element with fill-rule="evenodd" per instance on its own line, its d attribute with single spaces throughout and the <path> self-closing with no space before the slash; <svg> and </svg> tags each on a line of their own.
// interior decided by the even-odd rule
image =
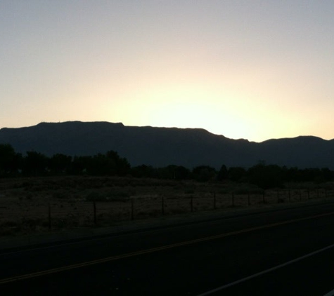
<svg viewBox="0 0 334 296">
<path fill-rule="evenodd" d="M 297 203 L 333 197 L 333 189 L 279 189 L 228 193 L 213 191 L 179 196 L 157 194 L 111 201 L 45 199 L 37 202 L 34 199 L 22 199 L 6 206 L 0 203 L 0 235 L 69 227 L 103 227 L 119 221 L 162 215 Z"/>
</svg>

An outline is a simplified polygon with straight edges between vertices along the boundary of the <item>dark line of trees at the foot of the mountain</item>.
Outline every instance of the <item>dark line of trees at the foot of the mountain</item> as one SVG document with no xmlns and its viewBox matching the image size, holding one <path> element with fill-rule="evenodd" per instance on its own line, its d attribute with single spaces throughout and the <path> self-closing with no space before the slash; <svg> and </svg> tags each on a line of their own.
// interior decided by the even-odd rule
<svg viewBox="0 0 334 296">
<path fill-rule="evenodd" d="M 0 144 L 0 177 L 32 177 L 52 175 L 132 176 L 170 180 L 196 180 L 198 182 L 248 182 L 263 189 L 283 187 L 285 182 L 328 182 L 334 172 L 328 168 L 287 168 L 266 165 L 260 161 L 251 168 L 222 165 L 212 166 L 169 165 L 155 168 L 145 164 L 131 167 L 127 159 L 115 151 L 94 156 L 68 156 L 54 154 L 49 157 L 39 152 L 16 153 L 11 144 Z"/>
</svg>

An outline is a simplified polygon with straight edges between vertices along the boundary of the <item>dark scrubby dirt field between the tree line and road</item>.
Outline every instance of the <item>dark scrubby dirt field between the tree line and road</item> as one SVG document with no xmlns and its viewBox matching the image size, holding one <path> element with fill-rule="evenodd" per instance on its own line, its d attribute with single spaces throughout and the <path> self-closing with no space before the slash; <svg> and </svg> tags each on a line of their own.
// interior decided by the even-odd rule
<svg viewBox="0 0 334 296">
<path fill-rule="evenodd" d="M 263 191 L 249 184 L 132 177 L 0 179 L 0 236 L 325 197 L 334 198 L 334 184 Z"/>
</svg>

